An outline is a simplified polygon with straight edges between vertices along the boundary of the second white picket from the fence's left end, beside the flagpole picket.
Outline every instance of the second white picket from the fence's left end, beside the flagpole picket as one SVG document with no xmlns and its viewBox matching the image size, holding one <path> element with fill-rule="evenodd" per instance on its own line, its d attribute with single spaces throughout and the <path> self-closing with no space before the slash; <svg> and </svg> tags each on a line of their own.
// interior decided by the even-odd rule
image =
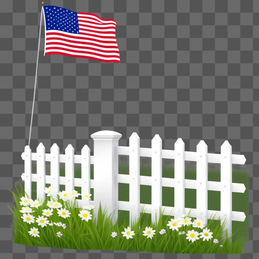
<svg viewBox="0 0 259 259">
<path fill-rule="evenodd" d="M 37 199 L 45 200 L 45 147 L 39 143 L 37 147 Z"/>
</svg>

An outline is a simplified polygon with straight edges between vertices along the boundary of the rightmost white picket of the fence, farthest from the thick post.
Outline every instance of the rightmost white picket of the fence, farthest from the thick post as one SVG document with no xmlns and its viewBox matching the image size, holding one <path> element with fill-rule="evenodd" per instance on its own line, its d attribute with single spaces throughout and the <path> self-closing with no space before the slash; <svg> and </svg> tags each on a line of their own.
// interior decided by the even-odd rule
<svg viewBox="0 0 259 259">
<path fill-rule="evenodd" d="M 220 211 L 221 224 L 226 219 L 225 229 L 228 237 L 232 235 L 232 147 L 226 140 L 221 146 L 221 165 L 220 165 Z M 223 238 L 225 238 L 226 232 Z"/>
</svg>

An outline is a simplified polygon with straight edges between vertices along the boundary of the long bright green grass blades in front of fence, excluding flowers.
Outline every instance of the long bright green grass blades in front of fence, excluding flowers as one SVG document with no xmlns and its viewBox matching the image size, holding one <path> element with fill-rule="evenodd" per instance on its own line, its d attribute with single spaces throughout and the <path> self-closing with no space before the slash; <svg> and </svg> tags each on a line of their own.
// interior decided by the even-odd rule
<svg viewBox="0 0 259 259">
<path fill-rule="evenodd" d="M 58 226 L 46 226 L 40 227 L 37 223 L 31 225 L 23 222 L 21 219 L 22 213 L 19 212 L 21 205 L 19 204 L 19 197 L 23 196 L 23 189 L 18 189 L 17 192 L 12 192 L 15 198 L 15 204 L 13 206 L 12 213 L 14 215 L 13 242 L 29 245 L 29 246 L 44 246 L 55 248 L 68 248 L 68 249 L 93 249 L 93 250 L 129 250 L 129 251 L 146 251 L 157 253 L 212 253 L 212 254 L 225 254 L 225 253 L 243 253 L 244 240 L 236 238 L 230 243 L 230 237 L 222 240 L 223 226 L 215 224 L 215 220 L 211 219 L 208 222 L 207 227 L 213 232 L 213 238 L 210 241 L 202 241 L 199 239 L 194 243 L 189 242 L 186 239 L 186 235 L 179 235 L 177 231 L 172 231 L 167 226 L 167 221 L 171 217 L 162 215 L 157 222 L 149 223 L 149 217 L 145 217 L 145 213 L 141 213 L 140 218 L 137 221 L 132 222 L 131 230 L 135 232 L 133 239 L 127 240 L 121 234 L 124 228 L 128 226 L 128 222 L 125 220 L 117 220 L 113 225 L 111 216 L 107 215 L 106 210 L 99 208 L 97 215 L 97 224 L 95 225 L 93 219 L 88 222 L 82 221 L 78 217 L 80 209 L 75 207 L 75 203 L 64 203 L 61 201 L 63 207 L 71 212 L 70 218 L 63 219 L 58 217 L 56 209 L 54 209 L 53 215 L 49 218 L 51 222 L 62 222 L 66 224 L 66 228 Z M 49 197 L 39 208 L 33 208 L 34 212 L 31 213 L 36 217 L 42 215 L 42 209 L 47 208 L 46 203 Z M 75 200 L 76 202 L 76 200 Z M 142 212 L 144 212 L 142 210 Z M 191 213 L 191 212 L 190 212 Z M 40 238 L 31 237 L 28 233 L 30 228 L 36 227 L 39 230 Z M 143 230 L 146 226 L 153 227 L 156 230 L 156 234 L 151 239 L 143 236 Z M 164 228 L 166 234 L 160 235 L 159 231 Z M 187 231 L 192 228 L 191 226 L 185 226 L 179 228 L 179 231 Z M 56 233 L 61 232 L 63 235 L 58 238 Z M 111 237 L 111 232 L 117 232 L 116 238 Z M 198 232 L 202 232 L 201 230 Z M 218 239 L 219 243 L 214 244 L 213 239 Z M 219 247 L 222 244 L 223 247 Z"/>
</svg>

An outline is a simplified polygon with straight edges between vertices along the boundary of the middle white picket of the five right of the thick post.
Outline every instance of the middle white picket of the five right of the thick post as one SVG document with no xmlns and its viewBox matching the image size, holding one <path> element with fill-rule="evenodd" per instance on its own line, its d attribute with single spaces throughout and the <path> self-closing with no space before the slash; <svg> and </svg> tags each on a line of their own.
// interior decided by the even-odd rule
<svg viewBox="0 0 259 259">
<path fill-rule="evenodd" d="M 181 217 L 185 213 L 184 209 L 184 142 L 177 139 L 175 142 L 175 206 L 174 218 Z"/>
</svg>

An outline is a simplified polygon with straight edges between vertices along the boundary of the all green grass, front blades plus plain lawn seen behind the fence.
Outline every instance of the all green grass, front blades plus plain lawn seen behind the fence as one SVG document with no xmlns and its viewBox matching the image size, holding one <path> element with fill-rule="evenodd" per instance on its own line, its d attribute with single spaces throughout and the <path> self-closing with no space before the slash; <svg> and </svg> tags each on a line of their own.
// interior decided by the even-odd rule
<svg viewBox="0 0 259 259">
<path fill-rule="evenodd" d="M 119 174 L 128 174 L 127 166 L 119 166 Z M 140 175 L 151 176 L 150 166 L 141 166 Z M 65 176 L 65 170 L 60 168 L 60 176 Z M 81 178 L 81 168 L 75 167 L 75 177 Z M 173 167 L 163 167 L 162 177 L 174 178 Z M 91 165 L 90 178 L 93 179 L 93 165 Z M 185 179 L 196 179 L 195 169 L 185 169 Z M 208 171 L 209 181 L 220 181 L 220 171 L 210 170 Z M 241 170 L 233 170 L 232 182 L 243 183 L 246 186 L 244 193 L 232 193 L 232 210 L 241 211 L 246 214 L 244 222 L 232 221 L 232 244 L 229 244 L 229 239 L 224 241 L 223 247 L 219 248 L 219 244 L 214 244 L 212 241 L 198 240 L 194 244 L 188 242 L 185 239 L 185 235 L 178 235 L 176 231 L 169 230 L 167 224 L 168 216 L 161 215 L 159 221 L 155 224 L 151 222 L 151 215 L 142 211 L 140 219 L 133 224 L 132 229 L 136 235 L 133 240 L 126 240 L 122 237 L 121 231 L 124 231 L 124 227 L 129 224 L 129 212 L 119 210 L 118 221 L 113 226 L 111 219 L 108 217 L 105 211 L 99 211 L 98 224 L 95 226 L 93 220 L 89 222 L 82 222 L 77 216 L 78 209 L 71 208 L 71 217 L 69 219 L 61 220 L 57 215 L 53 215 L 52 221 L 62 221 L 67 224 L 67 228 L 57 226 L 47 226 L 43 229 L 39 226 L 39 231 L 42 232 L 40 238 L 30 237 L 28 231 L 32 226 L 23 222 L 20 218 L 21 206 L 16 203 L 13 207 L 14 214 L 14 239 L 15 243 L 27 244 L 33 246 L 46 246 L 46 247 L 60 247 L 71 249 L 95 249 L 95 250 L 133 250 L 133 251 L 149 251 L 160 253 L 243 253 L 243 246 L 248 241 L 248 172 Z M 46 184 L 49 186 L 49 184 Z M 63 185 L 60 185 L 60 190 L 64 190 Z M 119 195 L 118 199 L 122 201 L 129 201 L 129 184 L 119 183 Z M 32 182 L 32 198 L 36 199 L 36 182 Z M 75 186 L 75 190 L 81 193 L 81 188 Z M 18 196 L 23 194 L 22 190 L 18 191 Z M 94 190 L 91 189 L 92 200 L 94 200 Z M 15 195 L 15 194 L 14 194 Z M 151 204 L 151 186 L 140 186 L 140 203 Z M 174 206 L 174 188 L 163 187 L 162 188 L 162 205 Z M 196 190 L 185 189 L 185 207 L 196 208 Z M 42 207 L 42 209 L 46 208 Z M 40 211 L 35 211 L 34 215 L 41 215 Z M 220 211 L 220 192 L 208 191 L 208 209 Z M 35 214 L 36 213 L 36 214 Z M 218 215 L 217 215 L 218 217 Z M 73 220 L 71 220 L 73 218 Z M 169 217 L 169 219 L 172 217 Z M 102 222 L 102 223 L 100 223 Z M 35 227 L 37 223 L 33 224 Z M 146 226 L 153 226 L 156 229 L 156 235 L 152 240 L 142 236 L 142 231 Z M 167 233 L 160 235 L 159 231 L 164 228 Z M 222 226 L 220 221 L 215 218 L 208 220 L 208 228 L 213 232 L 213 239 L 217 238 L 221 242 Z M 190 227 L 182 227 L 179 231 L 186 231 Z M 56 237 L 56 232 L 61 231 L 63 236 L 61 238 Z M 118 236 L 112 238 L 111 232 L 117 232 Z M 26 238 L 25 238 L 26 236 Z"/>
</svg>

